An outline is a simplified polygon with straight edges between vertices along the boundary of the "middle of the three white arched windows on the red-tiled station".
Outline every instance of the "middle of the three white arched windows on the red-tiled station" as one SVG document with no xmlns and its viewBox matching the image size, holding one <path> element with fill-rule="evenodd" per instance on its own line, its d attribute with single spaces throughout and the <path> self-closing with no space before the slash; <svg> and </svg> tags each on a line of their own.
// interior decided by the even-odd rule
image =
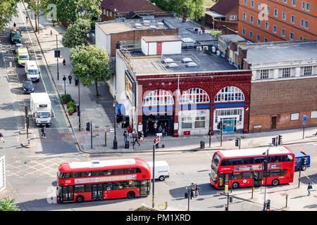
<svg viewBox="0 0 317 225">
<path fill-rule="evenodd" d="M 180 104 L 209 103 L 209 96 L 203 89 L 188 89 L 180 97 Z"/>
</svg>

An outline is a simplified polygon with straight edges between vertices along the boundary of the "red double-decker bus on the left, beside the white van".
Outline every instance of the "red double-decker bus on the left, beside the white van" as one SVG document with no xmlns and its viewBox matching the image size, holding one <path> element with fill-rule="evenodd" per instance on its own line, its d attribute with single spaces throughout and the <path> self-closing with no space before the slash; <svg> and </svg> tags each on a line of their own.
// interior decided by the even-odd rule
<svg viewBox="0 0 317 225">
<path fill-rule="evenodd" d="M 137 158 L 63 163 L 58 167 L 59 203 L 135 198 L 150 192 L 151 170 Z"/>
</svg>

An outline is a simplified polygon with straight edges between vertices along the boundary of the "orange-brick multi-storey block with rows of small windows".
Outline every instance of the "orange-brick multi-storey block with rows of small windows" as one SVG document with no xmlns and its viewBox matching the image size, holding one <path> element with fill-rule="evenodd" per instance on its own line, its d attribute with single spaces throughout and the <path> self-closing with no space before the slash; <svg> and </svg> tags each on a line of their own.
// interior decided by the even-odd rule
<svg viewBox="0 0 317 225">
<path fill-rule="evenodd" d="M 317 38 L 316 0 L 240 0 L 238 18 L 238 34 L 252 42 Z"/>
</svg>

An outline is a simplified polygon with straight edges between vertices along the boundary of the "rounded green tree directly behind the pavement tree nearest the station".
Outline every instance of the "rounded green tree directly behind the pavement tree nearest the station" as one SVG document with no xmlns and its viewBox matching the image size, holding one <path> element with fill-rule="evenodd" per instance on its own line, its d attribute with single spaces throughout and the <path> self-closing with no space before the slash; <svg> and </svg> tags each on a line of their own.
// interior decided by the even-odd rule
<svg viewBox="0 0 317 225">
<path fill-rule="evenodd" d="M 63 46 L 74 48 L 88 43 L 87 34 L 91 29 L 90 21 L 85 18 L 78 18 L 70 25 L 62 39 Z"/>
</svg>

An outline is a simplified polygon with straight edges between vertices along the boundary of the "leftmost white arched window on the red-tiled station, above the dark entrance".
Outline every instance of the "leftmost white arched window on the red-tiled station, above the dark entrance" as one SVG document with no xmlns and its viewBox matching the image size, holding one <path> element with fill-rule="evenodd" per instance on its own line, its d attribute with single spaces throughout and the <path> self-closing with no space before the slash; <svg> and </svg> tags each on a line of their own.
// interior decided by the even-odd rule
<svg viewBox="0 0 317 225">
<path fill-rule="evenodd" d="M 164 90 L 151 91 L 143 100 L 143 105 L 173 105 L 173 96 Z"/>
</svg>

